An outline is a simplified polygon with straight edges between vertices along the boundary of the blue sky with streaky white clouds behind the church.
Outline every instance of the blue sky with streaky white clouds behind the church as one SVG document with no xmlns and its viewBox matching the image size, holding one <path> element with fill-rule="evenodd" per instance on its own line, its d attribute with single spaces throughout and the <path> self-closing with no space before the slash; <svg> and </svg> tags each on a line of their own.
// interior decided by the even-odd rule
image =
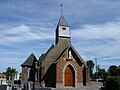
<svg viewBox="0 0 120 90">
<path fill-rule="evenodd" d="M 120 0 L 0 0 L 0 72 L 21 72 L 31 53 L 39 58 L 55 43 L 61 4 L 81 57 L 106 70 L 120 65 Z"/>
</svg>

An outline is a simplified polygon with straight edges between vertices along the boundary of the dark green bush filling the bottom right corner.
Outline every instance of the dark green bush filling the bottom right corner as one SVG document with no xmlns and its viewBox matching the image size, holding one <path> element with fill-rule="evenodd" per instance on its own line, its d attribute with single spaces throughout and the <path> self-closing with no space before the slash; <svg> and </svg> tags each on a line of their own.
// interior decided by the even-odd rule
<svg viewBox="0 0 120 90">
<path fill-rule="evenodd" d="M 107 78 L 105 88 L 106 90 L 120 90 L 120 76 Z"/>
</svg>

